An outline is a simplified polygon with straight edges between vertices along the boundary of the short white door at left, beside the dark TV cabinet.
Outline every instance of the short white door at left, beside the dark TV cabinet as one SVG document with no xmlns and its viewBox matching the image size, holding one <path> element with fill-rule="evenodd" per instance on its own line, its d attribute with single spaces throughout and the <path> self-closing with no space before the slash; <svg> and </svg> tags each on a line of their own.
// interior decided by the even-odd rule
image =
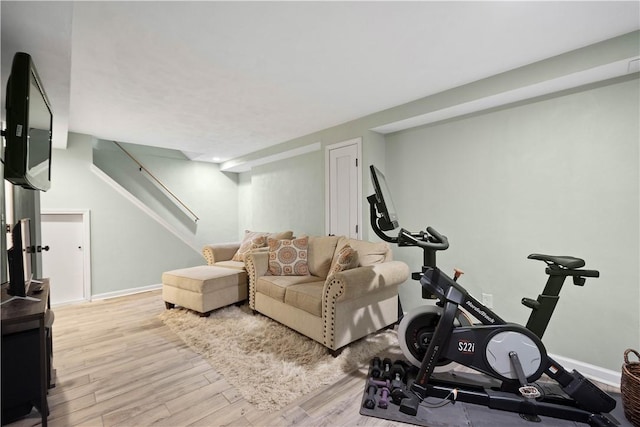
<svg viewBox="0 0 640 427">
<path fill-rule="evenodd" d="M 85 292 L 84 223 L 80 213 L 43 213 L 42 274 L 51 283 L 51 304 L 89 299 Z"/>
</svg>

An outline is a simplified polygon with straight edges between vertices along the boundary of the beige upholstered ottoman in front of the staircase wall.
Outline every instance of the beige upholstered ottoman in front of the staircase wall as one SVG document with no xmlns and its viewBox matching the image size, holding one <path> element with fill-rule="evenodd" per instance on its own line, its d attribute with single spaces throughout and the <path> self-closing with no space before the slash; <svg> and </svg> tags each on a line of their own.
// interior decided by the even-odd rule
<svg viewBox="0 0 640 427">
<path fill-rule="evenodd" d="M 202 265 L 162 273 L 162 299 L 208 316 L 211 310 L 247 299 L 247 273 Z"/>
</svg>

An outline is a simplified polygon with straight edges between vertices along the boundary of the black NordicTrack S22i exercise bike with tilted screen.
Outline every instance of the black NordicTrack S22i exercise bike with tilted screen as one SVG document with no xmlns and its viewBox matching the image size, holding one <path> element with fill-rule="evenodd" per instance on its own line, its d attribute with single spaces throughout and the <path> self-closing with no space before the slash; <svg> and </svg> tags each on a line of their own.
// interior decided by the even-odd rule
<svg viewBox="0 0 640 427">
<path fill-rule="evenodd" d="M 459 271 L 452 278 L 436 266 L 436 252 L 449 247 L 446 236 L 432 227 L 417 233 L 401 228 L 393 237 L 384 233 L 398 227 L 397 217 L 384 176 L 374 166 L 371 174 L 376 190 L 368 198 L 373 230 L 398 246 L 423 249 L 422 270 L 412 278 L 420 281 L 423 298 L 437 300 L 435 306 L 419 307 L 400 320 L 403 354 L 419 367 L 415 378 L 406 381 L 400 412 L 415 416 L 424 399 L 438 397 L 516 412 L 531 421 L 549 416 L 591 426 L 618 425 L 609 414 L 616 401 L 578 371 L 564 369 L 541 341 L 565 279 L 572 277 L 582 286 L 586 277 L 598 277 L 598 271 L 582 269 L 585 262 L 575 257 L 530 255 L 547 264 L 547 285 L 536 300 L 522 299 L 532 309 L 526 327 L 506 322 L 457 282 Z M 451 362 L 485 374 L 487 385 L 439 377 L 436 368 Z M 562 391 L 534 383 L 543 374 Z"/>
</svg>

